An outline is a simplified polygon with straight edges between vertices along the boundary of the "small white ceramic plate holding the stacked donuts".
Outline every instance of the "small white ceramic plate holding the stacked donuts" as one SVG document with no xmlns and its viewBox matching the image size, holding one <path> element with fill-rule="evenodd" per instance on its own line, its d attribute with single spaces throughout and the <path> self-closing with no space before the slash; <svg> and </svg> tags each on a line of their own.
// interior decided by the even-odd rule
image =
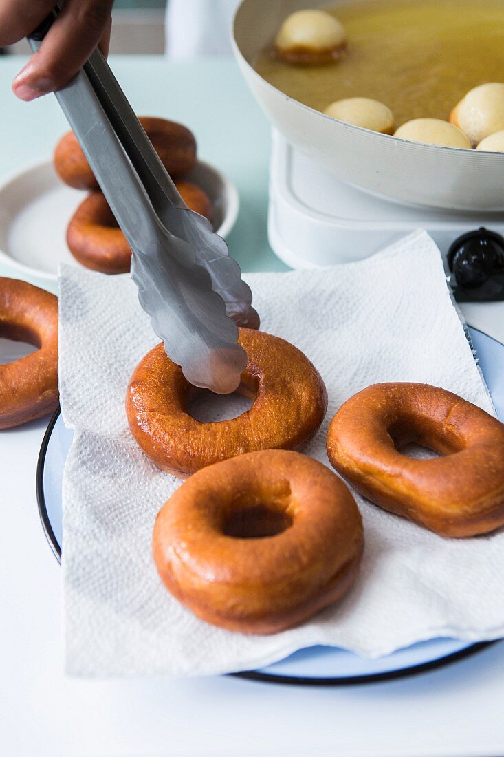
<svg viewBox="0 0 504 757">
<path fill-rule="evenodd" d="M 238 216 L 235 185 L 201 160 L 187 179 L 207 192 L 214 229 L 226 237 Z M 0 185 L 0 260 L 46 281 L 56 281 L 58 263 L 80 266 L 67 248 L 66 235 L 86 194 L 61 182 L 50 160 L 6 179 Z"/>
</svg>

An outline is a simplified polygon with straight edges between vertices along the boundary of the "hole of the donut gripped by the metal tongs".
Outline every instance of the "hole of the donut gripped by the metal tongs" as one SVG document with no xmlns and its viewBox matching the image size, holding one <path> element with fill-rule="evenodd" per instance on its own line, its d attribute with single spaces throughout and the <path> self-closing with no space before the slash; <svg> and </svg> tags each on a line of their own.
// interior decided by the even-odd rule
<svg viewBox="0 0 504 757">
<path fill-rule="evenodd" d="M 257 384 L 242 383 L 232 394 L 216 394 L 210 389 L 192 388 L 187 413 L 200 423 L 218 423 L 239 418 L 250 410 L 257 397 Z"/>
</svg>

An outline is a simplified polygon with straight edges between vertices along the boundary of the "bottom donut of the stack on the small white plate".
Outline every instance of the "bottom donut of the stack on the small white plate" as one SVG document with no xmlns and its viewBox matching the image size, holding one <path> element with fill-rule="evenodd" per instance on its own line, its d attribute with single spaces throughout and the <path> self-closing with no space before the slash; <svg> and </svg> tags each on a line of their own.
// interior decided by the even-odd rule
<svg viewBox="0 0 504 757">
<path fill-rule="evenodd" d="M 195 184 L 175 182 L 182 200 L 196 213 L 212 220 L 208 195 Z M 101 273 L 128 273 L 131 249 L 101 192 L 92 192 L 77 208 L 67 229 L 67 245 L 86 268 Z"/>
</svg>

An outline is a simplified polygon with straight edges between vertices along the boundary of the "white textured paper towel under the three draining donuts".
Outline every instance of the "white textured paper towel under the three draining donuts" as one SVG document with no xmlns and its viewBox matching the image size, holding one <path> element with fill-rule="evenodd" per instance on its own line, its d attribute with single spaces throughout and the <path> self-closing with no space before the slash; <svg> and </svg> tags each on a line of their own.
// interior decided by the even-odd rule
<svg viewBox="0 0 504 757">
<path fill-rule="evenodd" d="M 303 350 L 324 378 L 327 416 L 305 450 L 322 462 L 332 416 L 373 382 L 426 382 L 493 412 L 425 232 L 358 263 L 246 278 L 263 330 Z M 67 671 L 216 674 L 312 644 L 376 657 L 431 637 L 504 635 L 504 533 L 443 539 L 362 497 L 362 570 L 340 603 L 267 637 L 194 618 L 151 559 L 155 516 L 180 481 L 137 447 L 124 413 L 132 370 L 158 340 L 128 276 L 64 266 L 60 292 L 61 403 L 76 429 L 64 470 Z"/>
</svg>

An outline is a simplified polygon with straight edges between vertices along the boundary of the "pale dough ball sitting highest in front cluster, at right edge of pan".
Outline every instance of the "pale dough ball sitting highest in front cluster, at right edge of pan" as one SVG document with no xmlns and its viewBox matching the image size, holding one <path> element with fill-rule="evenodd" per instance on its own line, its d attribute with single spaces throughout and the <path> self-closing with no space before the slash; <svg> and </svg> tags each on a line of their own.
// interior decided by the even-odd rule
<svg viewBox="0 0 504 757">
<path fill-rule="evenodd" d="M 504 129 L 504 84 L 492 82 L 469 90 L 453 108 L 450 122 L 464 131 L 473 145 Z"/>
</svg>

